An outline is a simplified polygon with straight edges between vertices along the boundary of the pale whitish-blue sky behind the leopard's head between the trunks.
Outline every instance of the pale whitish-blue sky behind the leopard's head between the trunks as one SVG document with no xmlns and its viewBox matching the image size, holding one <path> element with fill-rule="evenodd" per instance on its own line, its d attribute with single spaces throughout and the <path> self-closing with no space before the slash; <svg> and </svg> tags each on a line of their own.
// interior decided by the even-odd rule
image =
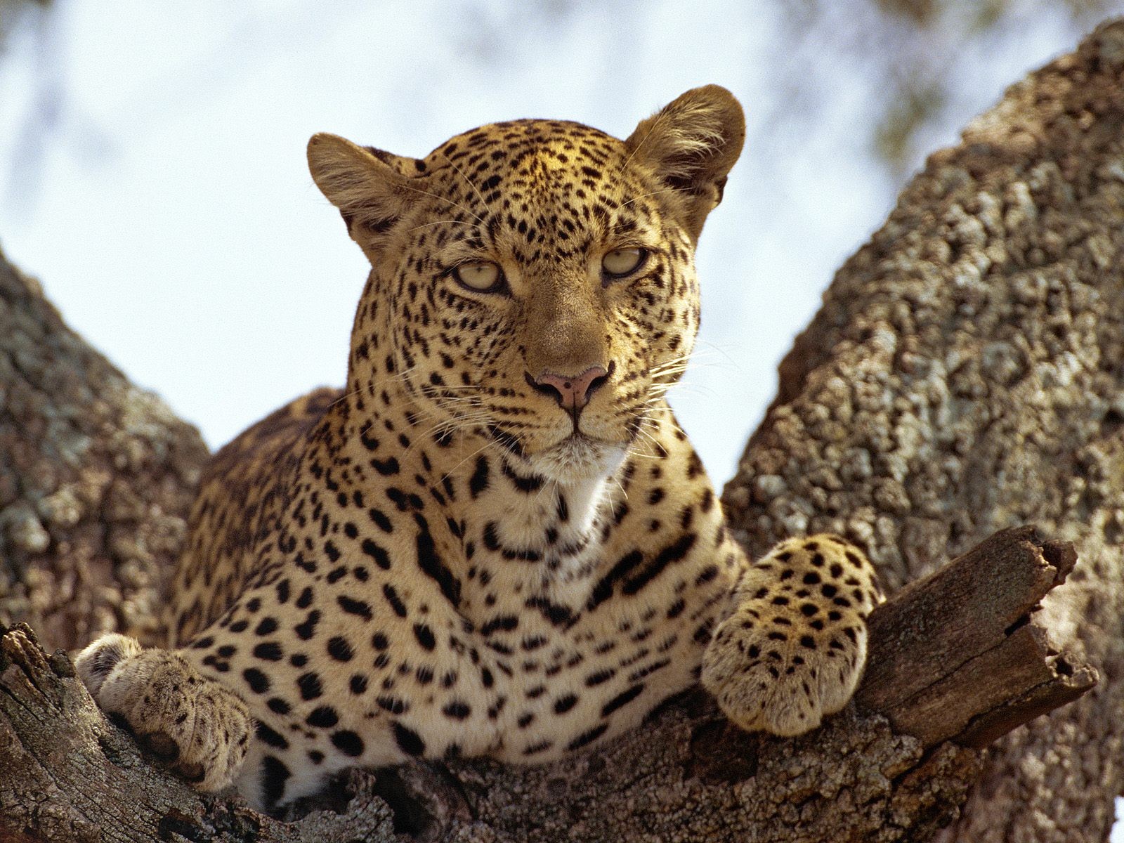
<svg viewBox="0 0 1124 843">
<path fill-rule="evenodd" d="M 700 353 L 674 399 L 718 484 L 900 187 L 868 143 L 894 49 L 953 82 L 924 153 L 1079 37 L 1035 0 L 967 47 L 949 19 L 889 48 L 864 0 L 824 3 L 796 42 L 768 0 L 553 0 L 553 19 L 518 0 L 55 6 L 0 53 L 0 246 L 212 447 L 344 378 L 365 262 L 308 176 L 309 135 L 417 156 L 518 117 L 627 136 L 688 88 L 733 90 L 749 143 L 703 235 Z"/>
</svg>

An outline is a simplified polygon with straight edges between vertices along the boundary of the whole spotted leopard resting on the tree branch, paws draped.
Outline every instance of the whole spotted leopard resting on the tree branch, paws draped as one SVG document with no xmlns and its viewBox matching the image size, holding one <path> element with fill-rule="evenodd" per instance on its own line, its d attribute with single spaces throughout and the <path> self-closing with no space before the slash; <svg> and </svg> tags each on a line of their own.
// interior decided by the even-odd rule
<svg viewBox="0 0 1124 843">
<path fill-rule="evenodd" d="M 827 534 L 751 560 L 668 401 L 744 138 L 718 85 L 624 140 L 518 119 L 414 158 L 312 136 L 371 266 L 345 386 L 215 454 L 165 646 L 76 656 L 102 709 L 275 812 L 350 767 L 596 752 L 699 683 L 750 731 L 844 708 L 871 562 Z"/>
</svg>

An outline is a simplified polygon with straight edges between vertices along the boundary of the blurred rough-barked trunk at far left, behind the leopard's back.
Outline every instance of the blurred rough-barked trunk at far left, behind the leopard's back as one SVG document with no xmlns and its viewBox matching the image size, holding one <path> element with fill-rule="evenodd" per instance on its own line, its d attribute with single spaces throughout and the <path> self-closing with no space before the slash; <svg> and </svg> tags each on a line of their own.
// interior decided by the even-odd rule
<svg viewBox="0 0 1124 843">
<path fill-rule="evenodd" d="M 52 646 L 162 637 L 207 448 L 0 255 L 0 623 Z"/>
</svg>

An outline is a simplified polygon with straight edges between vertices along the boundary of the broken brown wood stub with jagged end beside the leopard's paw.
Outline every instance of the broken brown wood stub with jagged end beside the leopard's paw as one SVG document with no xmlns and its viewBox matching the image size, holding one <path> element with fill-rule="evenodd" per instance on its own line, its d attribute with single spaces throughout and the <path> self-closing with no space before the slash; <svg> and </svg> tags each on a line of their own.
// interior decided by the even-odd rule
<svg viewBox="0 0 1124 843">
<path fill-rule="evenodd" d="M 870 617 L 860 710 L 926 747 L 979 749 L 1080 697 L 1097 671 L 1057 652 L 1035 616 L 1076 562 L 1069 542 L 1016 527 L 903 588 Z"/>
</svg>

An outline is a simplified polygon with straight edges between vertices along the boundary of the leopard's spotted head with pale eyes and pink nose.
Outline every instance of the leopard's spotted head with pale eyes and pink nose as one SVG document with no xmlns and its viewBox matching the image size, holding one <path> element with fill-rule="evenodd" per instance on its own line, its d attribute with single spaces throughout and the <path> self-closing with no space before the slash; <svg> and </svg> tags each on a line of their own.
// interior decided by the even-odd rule
<svg viewBox="0 0 1124 843">
<path fill-rule="evenodd" d="M 365 184 L 354 166 L 344 187 L 325 166 L 317 176 L 373 268 L 352 380 L 389 374 L 430 426 L 483 434 L 562 482 L 658 447 L 646 414 L 694 347 L 694 247 L 725 179 L 669 175 L 653 161 L 658 118 L 626 142 L 573 123 L 496 124 L 420 161 L 327 142 L 347 144 L 333 161 L 368 169 Z"/>
</svg>

